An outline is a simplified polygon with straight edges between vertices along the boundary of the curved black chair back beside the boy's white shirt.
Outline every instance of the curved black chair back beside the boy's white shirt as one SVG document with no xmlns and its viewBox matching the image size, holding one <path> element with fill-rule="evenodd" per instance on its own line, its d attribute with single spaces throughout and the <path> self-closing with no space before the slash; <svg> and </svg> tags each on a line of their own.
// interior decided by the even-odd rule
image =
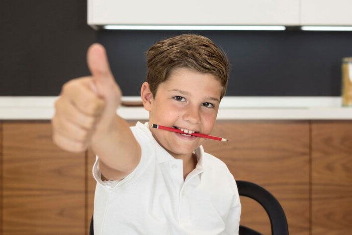
<svg viewBox="0 0 352 235">
<path fill-rule="evenodd" d="M 279 201 L 265 188 L 247 181 L 236 181 L 240 196 L 257 201 L 268 213 L 272 235 L 288 235 L 289 228 L 283 208 Z M 239 235 L 261 235 L 249 227 L 239 225 Z"/>
</svg>

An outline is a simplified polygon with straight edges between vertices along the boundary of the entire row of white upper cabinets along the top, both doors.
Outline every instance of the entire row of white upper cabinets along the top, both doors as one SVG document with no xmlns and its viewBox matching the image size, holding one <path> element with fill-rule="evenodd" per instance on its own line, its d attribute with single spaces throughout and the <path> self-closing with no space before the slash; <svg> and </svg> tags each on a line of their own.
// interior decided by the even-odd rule
<svg viewBox="0 0 352 235">
<path fill-rule="evenodd" d="M 352 25 L 349 0 L 88 0 L 87 23 L 99 25 Z"/>
</svg>

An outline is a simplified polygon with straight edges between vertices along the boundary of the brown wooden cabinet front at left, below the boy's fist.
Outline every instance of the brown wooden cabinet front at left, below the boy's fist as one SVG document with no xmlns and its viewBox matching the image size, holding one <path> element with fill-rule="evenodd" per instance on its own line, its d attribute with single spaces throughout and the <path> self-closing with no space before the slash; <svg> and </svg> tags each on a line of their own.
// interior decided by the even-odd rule
<svg viewBox="0 0 352 235">
<path fill-rule="evenodd" d="M 4 234 L 83 234 L 84 153 L 51 140 L 49 123 L 3 124 Z"/>
</svg>

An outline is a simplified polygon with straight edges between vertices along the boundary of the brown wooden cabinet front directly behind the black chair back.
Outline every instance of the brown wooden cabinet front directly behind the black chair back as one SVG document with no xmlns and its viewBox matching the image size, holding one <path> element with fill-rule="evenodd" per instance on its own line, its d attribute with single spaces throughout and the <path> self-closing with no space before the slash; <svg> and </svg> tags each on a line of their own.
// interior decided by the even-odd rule
<svg viewBox="0 0 352 235">
<path fill-rule="evenodd" d="M 236 180 L 247 180 L 273 193 L 282 204 L 290 234 L 309 234 L 309 123 L 218 121 L 206 152 L 223 160 Z M 265 212 L 242 199 L 241 224 L 270 233 Z"/>
</svg>

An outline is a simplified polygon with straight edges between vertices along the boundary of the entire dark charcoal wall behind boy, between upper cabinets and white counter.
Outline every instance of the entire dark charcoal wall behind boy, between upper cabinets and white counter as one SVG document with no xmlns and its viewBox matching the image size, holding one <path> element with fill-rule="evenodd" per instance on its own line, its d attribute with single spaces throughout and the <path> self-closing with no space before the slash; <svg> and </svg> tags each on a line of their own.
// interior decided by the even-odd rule
<svg viewBox="0 0 352 235">
<path fill-rule="evenodd" d="M 64 82 L 89 74 L 86 50 L 106 46 L 124 95 L 138 96 L 144 53 L 184 31 L 99 31 L 86 25 L 86 0 L 21 1 L 0 8 L 0 96 L 58 95 Z M 211 38 L 232 65 L 227 95 L 339 96 L 341 58 L 352 32 L 194 31 Z"/>
</svg>

